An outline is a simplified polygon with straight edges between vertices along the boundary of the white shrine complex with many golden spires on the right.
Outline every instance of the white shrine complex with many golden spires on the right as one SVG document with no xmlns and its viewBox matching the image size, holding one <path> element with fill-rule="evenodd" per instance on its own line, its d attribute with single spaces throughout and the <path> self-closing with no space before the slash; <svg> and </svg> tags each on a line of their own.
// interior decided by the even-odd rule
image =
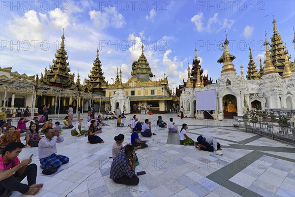
<svg viewBox="0 0 295 197">
<path fill-rule="evenodd" d="M 198 107 L 196 109 L 196 105 L 198 106 L 198 100 L 196 99 L 198 97 L 196 96 L 197 92 L 209 92 L 208 90 L 215 90 L 215 104 L 219 119 L 242 116 L 246 110 L 295 108 L 295 64 L 289 62 L 291 55 L 288 56 L 286 46 L 282 45 L 283 41 L 281 41 L 281 36 L 277 33 L 275 22 L 274 20 L 272 43 L 270 44 L 267 38 L 264 42 L 266 50 L 265 65 L 263 67 L 260 60 L 260 71 L 256 69 L 250 49 L 246 80 L 243 76 L 242 65 L 240 66 L 241 75 L 236 75 L 235 65 L 233 64 L 236 57 L 229 53 L 227 36 L 224 41 L 223 54 L 217 61 L 223 64 L 221 76 L 217 79 L 217 83 L 204 87 L 202 80 L 197 76 L 196 86 L 193 88 L 190 67 L 188 67 L 188 81 L 180 96 L 180 105 L 183 106 L 187 117 L 195 117 L 197 110 L 198 117 L 204 118 L 204 109 L 198 110 Z M 295 44 L 295 37 L 293 42 Z M 196 50 L 195 59 L 197 59 Z M 210 97 L 210 95 L 207 97 Z M 202 100 L 204 102 L 204 99 Z"/>
</svg>

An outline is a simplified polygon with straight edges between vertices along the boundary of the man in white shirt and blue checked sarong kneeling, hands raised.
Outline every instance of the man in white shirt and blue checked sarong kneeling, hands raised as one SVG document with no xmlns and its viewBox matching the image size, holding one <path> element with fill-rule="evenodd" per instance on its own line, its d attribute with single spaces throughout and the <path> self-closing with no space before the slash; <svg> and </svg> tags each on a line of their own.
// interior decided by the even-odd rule
<svg viewBox="0 0 295 197">
<path fill-rule="evenodd" d="M 39 159 L 42 169 L 59 168 L 62 164 L 69 163 L 69 158 L 63 155 L 57 155 L 56 143 L 63 142 L 64 138 L 59 135 L 58 130 L 47 128 L 45 137 L 39 141 Z"/>
</svg>

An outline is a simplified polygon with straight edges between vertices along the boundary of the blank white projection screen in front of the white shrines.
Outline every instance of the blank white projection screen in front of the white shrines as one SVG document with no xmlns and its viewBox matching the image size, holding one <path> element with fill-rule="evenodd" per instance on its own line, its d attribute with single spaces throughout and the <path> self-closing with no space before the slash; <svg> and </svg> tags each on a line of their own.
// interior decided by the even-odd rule
<svg viewBox="0 0 295 197">
<path fill-rule="evenodd" d="M 216 91 L 206 90 L 197 92 L 196 110 L 216 110 Z"/>
</svg>

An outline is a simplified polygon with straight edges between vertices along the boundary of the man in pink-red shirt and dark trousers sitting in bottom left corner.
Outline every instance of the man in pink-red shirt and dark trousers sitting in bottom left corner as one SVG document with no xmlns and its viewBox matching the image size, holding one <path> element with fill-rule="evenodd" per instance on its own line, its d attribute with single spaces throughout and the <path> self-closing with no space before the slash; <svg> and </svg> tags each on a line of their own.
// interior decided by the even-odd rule
<svg viewBox="0 0 295 197">
<path fill-rule="evenodd" d="M 43 183 L 36 184 L 37 165 L 30 164 L 32 159 L 25 159 L 20 163 L 18 155 L 24 144 L 10 142 L 3 149 L 0 156 L 0 196 L 10 196 L 12 191 L 26 195 L 36 195 L 43 187 Z M 28 185 L 21 181 L 27 176 Z"/>
</svg>

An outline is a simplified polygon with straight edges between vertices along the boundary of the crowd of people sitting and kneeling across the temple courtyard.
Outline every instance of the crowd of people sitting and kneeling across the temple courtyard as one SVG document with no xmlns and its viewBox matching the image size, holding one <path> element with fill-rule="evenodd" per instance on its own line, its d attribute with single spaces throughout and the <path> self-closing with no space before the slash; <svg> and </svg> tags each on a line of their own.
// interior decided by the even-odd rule
<svg viewBox="0 0 295 197">
<path fill-rule="evenodd" d="M 44 105 L 44 107 L 47 108 L 49 105 Z M 3 131 L 3 128 L 5 128 L 5 131 L 3 131 L 4 134 L 0 137 L 0 195 L 5 192 L 7 193 L 7 191 L 18 191 L 22 194 L 35 195 L 43 187 L 43 184 L 36 184 L 37 166 L 36 164 L 30 164 L 32 159 L 28 158 L 22 162 L 18 160 L 17 156 L 23 148 L 27 148 L 28 146 L 33 147 L 33 144 L 38 146 L 38 159 L 41 164 L 40 167 L 43 169 L 42 173 L 53 174 L 57 172 L 62 164 L 67 164 L 69 162 L 68 157 L 57 154 L 56 143 L 64 141 L 61 135 L 63 129 L 70 129 L 72 136 L 80 137 L 85 134 L 85 136 L 88 136 L 87 143 L 104 143 L 104 140 L 98 136 L 99 133 L 102 133 L 101 126 L 104 124 L 102 114 L 95 117 L 95 114 L 92 114 L 91 110 L 87 118 L 88 123 L 83 127 L 82 117 L 79 116 L 78 122 L 73 126 L 73 118 L 71 116 L 72 109 L 69 108 L 67 112 L 67 116 L 65 116 L 62 121 L 62 126 L 60 126 L 59 121 L 56 121 L 54 123 L 55 127 L 53 127 L 53 120 L 48 119 L 48 115 L 43 115 L 40 119 L 34 117 L 28 129 L 26 123 L 29 122 L 29 120 L 23 117 L 18 121 L 17 127 L 12 126 L 11 119 L 1 122 L 1 126 L 4 127 L 0 126 L 0 133 Z M 114 137 L 115 142 L 112 147 L 113 162 L 111 165 L 110 178 L 118 184 L 137 185 L 139 183 L 139 178 L 135 174 L 135 168 L 139 164 L 139 159 L 136 155 L 136 150 L 147 148 L 149 141 L 147 139 L 142 139 L 139 135 L 143 137 L 152 137 L 156 135 L 156 133 L 152 131 L 153 128 L 149 119 L 140 122 L 139 118 L 134 115 L 130 124 L 124 125 L 121 123 L 123 117 L 119 107 L 116 109 L 115 113 L 116 115 L 120 114 L 117 119 L 117 127 L 128 126 L 131 129 L 131 140 L 130 143 L 123 146 L 125 136 L 120 133 Z M 3 115 L 1 118 L 3 118 Z M 39 127 L 39 123 L 44 122 L 44 119 L 45 124 Z M 170 118 L 168 123 L 166 123 L 163 117 L 159 116 L 156 125 L 159 129 L 168 127 L 168 132 L 178 133 L 173 118 Z M 39 132 L 39 130 L 41 132 Z M 182 128 L 179 131 L 180 144 L 184 146 L 195 145 L 199 150 L 210 152 L 221 150 L 220 144 L 214 137 L 200 135 L 197 140 L 194 141 L 188 136 L 187 130 L 187 124 L 182 124 Z M 22 132 L 25 132 L 25 144 L 21 143 L 20 140 L 20 134 Z M 42 137 L 42 133 L 45 136 Z M 11 161 L 13 162 L 11 163 Z M 28 184 L 20 183 L 26 176 Z M 11 181 L 13 184 L 8 184 Z"/>
</svg>

